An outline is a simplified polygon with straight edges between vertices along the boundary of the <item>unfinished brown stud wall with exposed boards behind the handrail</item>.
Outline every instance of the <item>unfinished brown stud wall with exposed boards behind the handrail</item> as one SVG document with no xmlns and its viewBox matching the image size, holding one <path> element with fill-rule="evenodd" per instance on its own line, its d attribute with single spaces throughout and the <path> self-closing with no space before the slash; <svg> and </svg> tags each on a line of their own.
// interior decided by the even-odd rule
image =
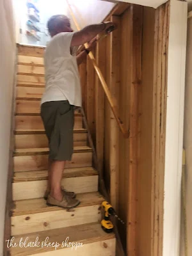
<svg viewBox="0 0 192 256">
<path fill-rule="evenodd" d="M 118 28 L 94 53 L 130 138 L 116 124 L 89 59 L 80 66 L 83 106 L 111 203 L 125 221 L 118 223 L 124 247 L 127 238 L 129 254 L 136 248 L 137 255 L 150 256 L 155 10 L 127 5 L 110 20 Z"/>
</svg>

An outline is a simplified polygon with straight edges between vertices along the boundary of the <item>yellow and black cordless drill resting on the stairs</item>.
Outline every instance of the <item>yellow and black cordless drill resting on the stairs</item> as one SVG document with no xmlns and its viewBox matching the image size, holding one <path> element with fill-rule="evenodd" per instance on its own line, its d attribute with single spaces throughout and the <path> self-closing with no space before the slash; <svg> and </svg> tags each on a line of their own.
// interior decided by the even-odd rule
<svg viewBox="0 0 192 256">
<path fill-rule="evenodd" d="M 102 202 L 101 211 L 104 212 L 104 213 L 102 213 L 102 221 L 100 221 L 102 229 L 107 233 L 113 232 L 113 223 L 109 220 L 109 216 L 113 215 L 116 218 L 118 218 L 115 210 L 107 201 L 104 201 L 104 202 Z M 120 218 L 118 218 L 118 220 L 120 220 Z M 122 221 L 122 220 L 120 220 L 120 221 L 124 224 L 124 221 Z"/>
</svg>

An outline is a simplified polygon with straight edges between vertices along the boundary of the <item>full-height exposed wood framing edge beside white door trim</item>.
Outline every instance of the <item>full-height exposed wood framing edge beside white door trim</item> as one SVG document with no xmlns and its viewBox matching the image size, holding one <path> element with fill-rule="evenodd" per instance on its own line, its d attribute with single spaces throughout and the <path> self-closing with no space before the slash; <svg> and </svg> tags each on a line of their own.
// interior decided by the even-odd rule
<svg viewBox="0 0 192 256">
<path fill-rule="evenodd" d="M 169 3 L 156 10 L 152 126 L 152 252 L 163 255 L 164 150 L 166 131 Z"/>
</svg>

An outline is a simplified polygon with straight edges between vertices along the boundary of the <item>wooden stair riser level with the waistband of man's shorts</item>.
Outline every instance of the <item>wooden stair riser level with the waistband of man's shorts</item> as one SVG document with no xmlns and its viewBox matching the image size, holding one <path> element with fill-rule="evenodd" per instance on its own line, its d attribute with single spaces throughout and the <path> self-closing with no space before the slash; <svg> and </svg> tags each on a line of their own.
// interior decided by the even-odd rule
<svg viewBox="0 0 192 256">
<path fill-rule="evenodd" d="M 16 115 L 40 115 L 40 100 L 16 100 Z M 82 116 L 80 110 L 75 111 L 75 116 Z"/>
</svg>

